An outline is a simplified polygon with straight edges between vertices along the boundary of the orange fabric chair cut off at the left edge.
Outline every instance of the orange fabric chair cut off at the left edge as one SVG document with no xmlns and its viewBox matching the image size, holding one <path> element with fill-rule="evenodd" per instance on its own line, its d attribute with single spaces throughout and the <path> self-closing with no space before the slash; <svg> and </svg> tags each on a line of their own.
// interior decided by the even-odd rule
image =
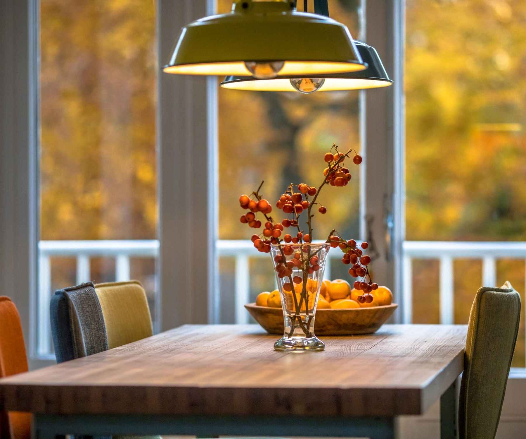
<svg viewBox="0 0 526 439">
<path fill-rule="evenodd" d="M 15 304 L 0 296 L 0 378 L 27 372 L 26 348 L 20 316 Z M 31 414 L 0 411 L 2 439 L 29 439 Z"/>
</svg>

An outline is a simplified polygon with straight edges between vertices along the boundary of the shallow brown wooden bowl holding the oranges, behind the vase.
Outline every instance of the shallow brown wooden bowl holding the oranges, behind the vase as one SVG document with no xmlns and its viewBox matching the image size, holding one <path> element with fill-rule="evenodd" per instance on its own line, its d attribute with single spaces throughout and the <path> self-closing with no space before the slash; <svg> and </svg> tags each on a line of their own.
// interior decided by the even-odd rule
<svg viewBox="0 0 526 439">
<path fill-rule="evenodd" d="M 247 304 L 245 308 L 269 334 L 283 335 L 285 325 L 281 308 L 255 303 Z M 372 334 L 386 323 L 397 308 L 397 304 L 391 304 L 371 308 L 318 309 L 314 332 L 316 335 Z"/>
</svg>

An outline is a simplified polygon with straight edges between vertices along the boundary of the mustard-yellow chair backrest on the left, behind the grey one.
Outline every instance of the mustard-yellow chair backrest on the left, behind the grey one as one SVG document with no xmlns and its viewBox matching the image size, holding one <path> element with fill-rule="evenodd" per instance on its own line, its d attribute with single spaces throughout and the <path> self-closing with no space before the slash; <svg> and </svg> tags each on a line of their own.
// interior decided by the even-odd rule
<svg viewBox="0 0 526 439">
<path fill-rule="evenodd" d="M 95 285 L 112 349 L 153 335 L 146 292 L 137 280 Z"/>
</svg>

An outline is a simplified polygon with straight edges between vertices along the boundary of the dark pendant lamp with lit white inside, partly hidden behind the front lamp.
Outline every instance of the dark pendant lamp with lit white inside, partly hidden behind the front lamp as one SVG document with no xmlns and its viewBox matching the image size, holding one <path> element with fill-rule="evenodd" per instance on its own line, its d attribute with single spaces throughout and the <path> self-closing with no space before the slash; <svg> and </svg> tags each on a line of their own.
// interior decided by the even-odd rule
<svg viewBox="0 0 526 439">
<path fill-rule="evenodd" d="M 315 0 L 315 11 L 319 14 L 329 13 L 327 0 Z M 232 90 L 273 91 L 273 92 L 301 92 L 315 91 L 362 90 L 387 87 L 393 82 L 383 67 L 380 56 L 374 47 L 355 40 L 355 46 L 364 63 L 366 70 L 312 75 L 288 75 L 276 79 L 256 79 L 251 76 L 227 76 L 221 82 L 221 87 Z"/>
</svg>

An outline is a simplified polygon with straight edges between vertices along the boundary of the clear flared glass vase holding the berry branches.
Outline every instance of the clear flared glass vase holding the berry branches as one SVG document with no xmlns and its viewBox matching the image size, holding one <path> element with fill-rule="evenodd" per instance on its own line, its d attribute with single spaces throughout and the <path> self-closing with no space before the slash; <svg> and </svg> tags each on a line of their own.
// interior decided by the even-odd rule
<svg viewBox="0 0 526 439">
<path fill-rule="evenodd" d="M 314 334 L 314 320 L 329 249 L 326 243 L 271 246 L 285 320 L 285 333 L 274 349 L 308 352 L 325 348 Z"/>
</svg>

